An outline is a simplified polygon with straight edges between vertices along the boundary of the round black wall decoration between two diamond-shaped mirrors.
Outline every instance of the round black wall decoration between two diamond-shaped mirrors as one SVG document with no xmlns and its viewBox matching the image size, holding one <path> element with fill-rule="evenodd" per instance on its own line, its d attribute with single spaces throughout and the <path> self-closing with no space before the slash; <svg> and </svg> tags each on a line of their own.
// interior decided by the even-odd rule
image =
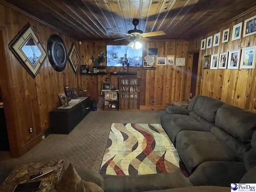
<svg viewBox="0 0 256 192">
<path fill-rule="evenodd" d="M 63 71 L 67 64 L 67 51 L 62 38 L 56 34 L 51 35 L 47 51 L 52 68 L 58 72 Z"/>
</svg>

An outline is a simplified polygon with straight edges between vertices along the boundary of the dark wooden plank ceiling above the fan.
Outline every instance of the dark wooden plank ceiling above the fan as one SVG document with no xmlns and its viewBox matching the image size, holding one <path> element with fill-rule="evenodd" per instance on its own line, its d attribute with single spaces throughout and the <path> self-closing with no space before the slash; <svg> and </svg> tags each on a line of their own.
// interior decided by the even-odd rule
<svg viewBox="0 0 256 192">
<path fill-rule="evenodd" d="M 0 2 L 4 2 L 0 0 Z M 116 39 L 137 28 L 152 39 L 192 39 L 256 6 L 255 0 L 8 0 L 77 40 Z"/>
</svg>

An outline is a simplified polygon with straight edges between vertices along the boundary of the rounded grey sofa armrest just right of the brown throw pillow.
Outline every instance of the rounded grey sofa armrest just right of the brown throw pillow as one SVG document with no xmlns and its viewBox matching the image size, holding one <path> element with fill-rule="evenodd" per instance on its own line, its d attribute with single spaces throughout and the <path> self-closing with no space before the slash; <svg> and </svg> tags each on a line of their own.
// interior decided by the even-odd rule
<svg viewBox="0 0 256 192">
<path fill-rule="evenodd" d="M 95 183 L 104 190 L 104 179 L 99 173 L 83 167 L 76 167 L 76 172 L 82 180 Z"/>
</svg>

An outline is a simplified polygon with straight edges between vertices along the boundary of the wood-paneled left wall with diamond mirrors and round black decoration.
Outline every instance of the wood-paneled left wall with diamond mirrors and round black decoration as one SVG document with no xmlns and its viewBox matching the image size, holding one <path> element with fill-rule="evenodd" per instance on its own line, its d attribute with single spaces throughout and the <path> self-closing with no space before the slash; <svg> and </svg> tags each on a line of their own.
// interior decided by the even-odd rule
<svg viewBox="0 0 256 192">
<path fill-rule="evenodd" d="M 8 48 L 10 41 L 28 22 L 34 27 L 45 48 L 50 35 L 59 34 L 67 52 L 73 42 L 79 50 L 78 41 L 0 4 L 0 30 L 4 37 L 6 60 L 0 63 L 0 71 L 3 72 L 0 84 L 4 110 L 8 114 L 6 119 L 12 156 L 21 156 L 40 142 L 44 130 L 50 127 L 49 112 L 60 106 L 58 92 L 63 92 L 66 85 L 77 88 L 81 84 L 80 75 L 74 74 L 69 62 L 63 72 L 56 72 L 48 58 L 36 78 L 30 76 Z M 29 128 L 33 129 L 32 133 L 29 133 Z"/>
</svg>

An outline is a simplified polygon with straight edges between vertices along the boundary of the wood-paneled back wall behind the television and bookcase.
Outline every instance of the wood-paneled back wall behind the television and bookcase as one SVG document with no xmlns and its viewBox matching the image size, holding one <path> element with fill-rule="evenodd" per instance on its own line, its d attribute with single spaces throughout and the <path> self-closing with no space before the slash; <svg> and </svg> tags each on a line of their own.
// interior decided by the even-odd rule
<svg viewBox="0 0 256 192">
<path fill-rule="evenodd" d="M 92 71 L 91 56 L 96 56 L 101 51 L 106 51 L 106 45 L 117 42 L 82 42 L 80 46 L 81 64 L 90 65 Z M 119 45 L 127 45 L 127 42 L 118 42 Z M 143 56 L 146 56 L 148 48 L 158 48 L 158 56 L 166 57 L 175 55 L 175 58 L 186 58 L 186 66 L 156 66 L 155 70 L 130 67 L 129 71 L 136 71 L 140 77 L 140 106 L 150 109 L 152 106 L 167 106 L 172 100 L 188 100 L 190 91 L 192 57 L 188 54 L 188 41 L 159 40 L 147 42 L 143 45 Z M 107 67 L 108 72 L 127 70 L 122 67 Z M 82 87 L 88 90 L 92 99 L 101 100 L 101 85 L 104 76 L 82 76 Z M 110 76 L 112 86 L 118 88 L 118 76 Z M 152 100 L 155 100 L 153 103 Z"/>
</svg>

